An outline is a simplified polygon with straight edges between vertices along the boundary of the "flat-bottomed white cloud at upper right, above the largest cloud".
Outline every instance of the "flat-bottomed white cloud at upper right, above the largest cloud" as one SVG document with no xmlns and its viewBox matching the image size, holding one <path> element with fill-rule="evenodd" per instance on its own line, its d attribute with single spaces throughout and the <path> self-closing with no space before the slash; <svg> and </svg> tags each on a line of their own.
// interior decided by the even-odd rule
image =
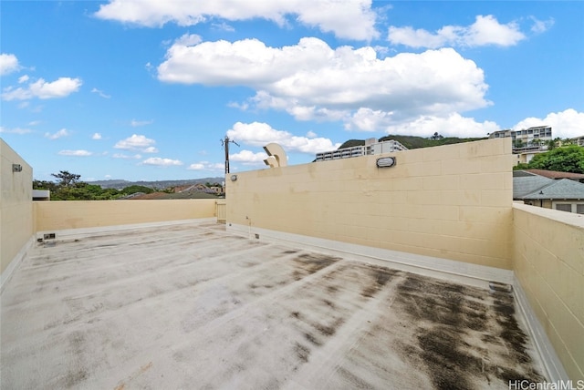
<svg viewBox="0 0 584 390">
<path fill-rule="evenodd" d="M 435 33 L 411 26 L 389 29 L 393 45 L 438 48 L 443 46 L 515 46 L 526 36 L 515 22 L 500 24 L 493 15 L 477 15 L 470 26 L 443 26 Z"/>
</svg>

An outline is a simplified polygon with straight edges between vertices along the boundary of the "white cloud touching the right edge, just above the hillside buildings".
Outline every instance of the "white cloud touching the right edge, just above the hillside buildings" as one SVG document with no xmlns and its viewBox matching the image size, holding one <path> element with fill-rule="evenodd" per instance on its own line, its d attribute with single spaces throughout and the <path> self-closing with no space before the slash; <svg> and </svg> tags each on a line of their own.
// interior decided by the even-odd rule
<svg viewBox="0 0 584 390">
<path fill-rule="evenodd" d="M 532 128 L 535 126 L 551 126 L 552 137 L 571 139 L 584 136 L 584 112 L 573 108 L 561 112 L 551 112 L 546 118 L 525 118 L 517 123 L 513 129 Z"/>
</svg>

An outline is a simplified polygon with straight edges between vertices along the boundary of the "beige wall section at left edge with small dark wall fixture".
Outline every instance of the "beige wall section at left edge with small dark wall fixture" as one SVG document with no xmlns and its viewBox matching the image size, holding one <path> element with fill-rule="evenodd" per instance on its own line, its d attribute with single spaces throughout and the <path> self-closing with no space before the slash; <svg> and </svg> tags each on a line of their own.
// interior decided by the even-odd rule
<svg viewBox="0 0 584 390">
<path fill-rule="evenodd" d="M 13 172 L 12 164 L 22 171 Z M 0 139 L 0 272 L 5 281 L 8 265 L 33 236 L 33 169 Z"/>
</svg>

